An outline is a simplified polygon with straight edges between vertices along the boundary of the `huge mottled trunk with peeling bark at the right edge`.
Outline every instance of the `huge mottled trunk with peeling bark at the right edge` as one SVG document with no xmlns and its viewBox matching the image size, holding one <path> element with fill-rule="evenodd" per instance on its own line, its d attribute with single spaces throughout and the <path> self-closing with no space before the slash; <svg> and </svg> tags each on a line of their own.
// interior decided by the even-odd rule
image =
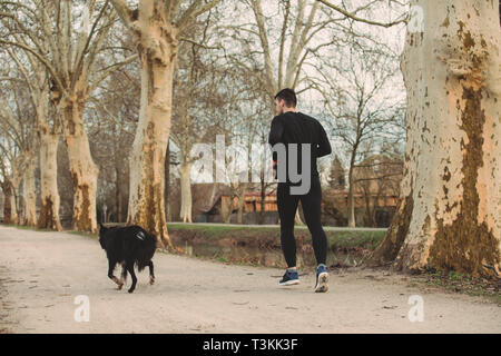
<svg viewBox="0 0 501 356">
<path fill-rule="evenodd" d="M 498 1 L 411 1 L 405 170 L 397 214 L 367 263 L 500 273 L 501 62 Z"/>
</svg>

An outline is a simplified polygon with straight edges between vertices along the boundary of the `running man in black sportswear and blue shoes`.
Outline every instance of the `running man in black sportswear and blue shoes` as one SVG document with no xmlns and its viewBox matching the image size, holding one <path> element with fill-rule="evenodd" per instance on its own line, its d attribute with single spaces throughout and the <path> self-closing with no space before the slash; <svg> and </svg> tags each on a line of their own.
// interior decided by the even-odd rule
<svg viewBox="0 0 501 356">
<path fill-rule="evenodd" d="M 285 180 L 278 175 L 276 194 L 278 216 L 281 218 L 281 244 L 287 264 L 287 270 L 279 285 L 289 286 L 299 283 L 299 275 L 296 268 L 294 219 L 298 201 L 301 200 L 306 225 L 312 234 L 313 249 L 317 263 L 315 291 L 327 291 L 328 273 L 325 266 L 327 238 L 321 222 L 322 189 L 316 158 L 330 155 L 332 149 L 322 125 L 307 115 L 296 112 L 296 93 L 292 89 L 283 89 L 275 96 L 275 111 L 277 116 L 272 120 L 268 136 L 268 144 L 272 145 L 273 150 L 273 168 L 276 171 L 282 171 L 284 175 L 286 172 Z M 278 157 L 278 150 L 274 148 L 281 145 L 275 146 L 276 144 L 285 146 L 285 159 L 284 156 Z M 308 150 L 304 154 L 303 147 L 310 149 L 310 155 Z M 296 149 L 296 154 L 292 155 L 291 149 Z M 302 157 L 303 155 L 305 156 Z M 307 161 L 303 161 L 303 159 Z M 293 168 L 289 169 L 289 166 L 293 166 Z M 310 189 L 307 189 L 306 194 L 297 194 L 297 190 L 294 192 L 294 187 L 304 184 L 304 181 L 297 182 L 297 175 L 294 175 L 294 166 L 297 167 L 298 174 L 301 170 L 301 179 L 308 180 L 306 186 Z M 306 168 L 306 172 L 303 171 L 304 168 Z"/>
</svg>

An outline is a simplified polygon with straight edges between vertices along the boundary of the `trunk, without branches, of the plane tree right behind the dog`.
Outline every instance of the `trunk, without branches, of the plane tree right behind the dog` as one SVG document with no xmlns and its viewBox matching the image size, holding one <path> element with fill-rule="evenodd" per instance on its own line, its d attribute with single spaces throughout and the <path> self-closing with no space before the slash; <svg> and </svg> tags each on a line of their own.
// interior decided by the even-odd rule
<svg viewBox="0 0 501 356">
<path fill-rule="evenodd" d="M 143 65 L 141 102 L 130 157 L 127 222 L 143 226 L 157 235 L 160 245 L 166 243 L 171 246 L 167 235 L 164 190 L 177 34 L 171 23 L 159 23 L 161 19 L 143 19 L 143 26 L 146 26 L 145 22 L 149 23 L 149 28 L 141 28 L 140 42 L 137 43 Z"/>
</svg>

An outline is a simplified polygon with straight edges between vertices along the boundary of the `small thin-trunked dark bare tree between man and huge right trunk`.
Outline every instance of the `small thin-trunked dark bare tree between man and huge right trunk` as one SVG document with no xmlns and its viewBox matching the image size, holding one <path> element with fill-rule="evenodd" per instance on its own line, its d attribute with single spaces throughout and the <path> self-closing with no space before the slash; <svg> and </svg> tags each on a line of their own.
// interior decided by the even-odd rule
<svg viewBox="0 0 501 356">
<path fill-rule="evenodd" d="M 327 112 L 333 117 L 328 126 L 348 154 L 347 206 L 348 226 L 355 226 L 354 175 L 362 159 L 365 142 L 373 152 L 382 145 L 382 138 L 403 138 L 399 130 L 403 120 L 403 99 L 393 88 L 399 71 L 392 56 L 380 53 L 357 53 L 353 49 L 340 53 L 342 60 L 334 59 L 324 70 L 324 87 L 331 90 L 320 92 L 324 97 Z M 327 67 L 324 67 L 325 69 Z M 336 92 L 334 98 L 332 92 Z"/>
</svg>

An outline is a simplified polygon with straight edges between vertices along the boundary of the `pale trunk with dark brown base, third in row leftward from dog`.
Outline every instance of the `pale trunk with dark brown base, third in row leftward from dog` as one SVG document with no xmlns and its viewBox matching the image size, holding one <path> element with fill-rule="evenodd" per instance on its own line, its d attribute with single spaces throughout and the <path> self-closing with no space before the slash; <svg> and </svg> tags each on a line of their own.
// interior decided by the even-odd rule
<svg viewBox="0 0 501 356">
<path fill-rule="evenodd" d="M 37 227 L 60 231 L 58 191 L 58 135 L 40 132 L 40 215 Z"/>
</svg>

